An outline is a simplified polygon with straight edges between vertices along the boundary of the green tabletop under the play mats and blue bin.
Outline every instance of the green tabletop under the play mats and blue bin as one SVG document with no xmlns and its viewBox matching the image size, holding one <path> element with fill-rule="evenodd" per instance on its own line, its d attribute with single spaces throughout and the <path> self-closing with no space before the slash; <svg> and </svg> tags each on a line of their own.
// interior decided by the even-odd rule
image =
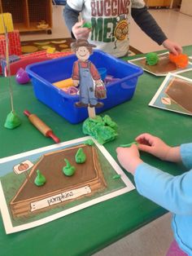
<svg viewBox="0 0 192 256">
<path fill-rule="evenodd" d="M 192 46 L 185 47 L 185 53 L 192 55 Z M 192 78 L 192 72 L 183 73 Z M 50 126 L 61 141 L 84 136 L 81 124 L 71 125 L 63 117 L 41 104 L 33 95 L 30 84 L 21 86 L 13 82 L 15 111 L 22 120 L 22 126 L 15 130 L 3 127 L 10 112 L 7 80 L 0 78 L 0 157 L 11 156 L 53 143 L 32 126 L 24 116 L 24 109 L 36 113 Z M 116 106 L 103 114 L 119 125 L 119 136 L 105 147 L 116 159 L 116 147 L 130 143 L 142 132 L 160 136 L 171 145 L 191 141 L 192 118 L 178 113 L 148 107 L 164 77 L 144 73 L 137 82 L 137 89 L 130 101 Z M 179 174 L 183 166 L 162 162 L 142 153 L 142 159 L 171 174 Z M 128 174 L 129 175 L 129 174 Z M 133 177 L 129 175 L 133 181 Z M 146 223 L 165 214 L 166 210 L 140 196 L 136 190 L 108 201 L 90 206 L 64 218 L 59 218 L 40 227 L 6 235 L 0 221 L 0 251 L 4 255 L 88 255 L 119 240 Z"/>
</svg>

